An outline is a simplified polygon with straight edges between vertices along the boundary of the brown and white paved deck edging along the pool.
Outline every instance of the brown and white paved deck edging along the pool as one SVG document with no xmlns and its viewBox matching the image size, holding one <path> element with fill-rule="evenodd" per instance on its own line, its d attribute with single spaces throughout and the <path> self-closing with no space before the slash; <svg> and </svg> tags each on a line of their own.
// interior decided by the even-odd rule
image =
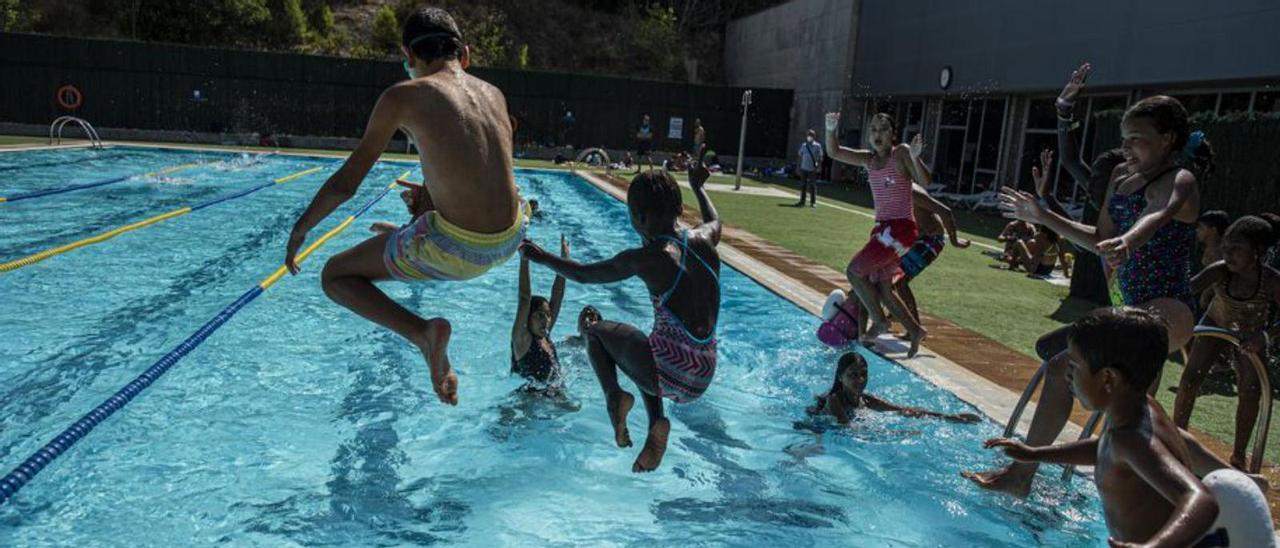
<svg viewBox="0 0 1280 548">
<path fill-rule="evenodd" d="M 184 149 L 214 152 L 264 152 L 264 150 L 257 149 L 205 147 L 186 143 L 147 143 L 123 141 L 110 141 L 105 143 L 108 146 Z M 0 146 L 0 152 L 19 150 L 78 149 L 87 146 L 87 142 L 55 146 L 44 143 L 8 145 Z M 279 150 L 276 154 L 312 157 L 347 156 L 346 151 L 323 154 L 312 151 L 292 152 L 288 150 Z M 406 160 L 392 161 L 404 163 Z M 541 168 L 521 169 L 538 170 Z M 566 169 L 552 170 L 566 172 Z M 568 172 L 575 173 L 609 196 L 626 202 L 626 188 L 628 183 L 625 179 L 603 173 L 572 169 L 568 169 Z M 716 189 L 730 191 L 731 187 Z M 746 187 L 744 187 L 744 191 Z M 695 209 L 686 206 L 681 220 L 687 224 L 695 224 L 699 222 L 699 214 Z M 815 316 L 822 314 L 822 306 L 831 291 L 846 291 L 849 287 L 849 282 L 845 279 L 842 273 L 838 273 L 826 265 L 819 265 L 791 250 L 783 248 L 750 232 L 736 228 L 731 223 L 724 224 L 718 250 L 724 262 L 760 283 L 769 291 L 777 293 L 780 297 L 791 301 L 800 309 Z M 956 394 L 956 397 L 972 405 L 978 411 L 991 417 L 995 423 L 1004 425 L 1007 420 L 1006 417 L 1012 414 L 1012 410 L 1018 403 L 1019 394 L 1027 387 L 1027 383 L 1030 380 L 1039 364 L 1020 352 L 941 318 L 931 316 L 922 311 L 920 320 L 929 330 L 929 337 L 925 339 L 928 344 L 923 344 L 915 357 L 906 357 L 906 344 L 892 337 L 881 337 L 873 351 L 893 360 L 897 364 L 901 364 L 904 367 L 908 367 L 923 379 Z M 1023 419 L 1019 423 L 1019 431 L 1025 431 L 1029 426 L 1030 417 L 1036 411 L 1034 402 L 1037 397 L 1033 397 L 1032 403 L 1027 406 Z M 1080 435 L 1082 425 L 1087 420 L 1088 414 L 1076 406 L 1076 410 L 1071 415 L 1071 423 L 1069 423 L 1064 431 L 1059 435 L 1059 442 L 1076 439 Z M 1197 434 L 1197 438 L 1206 447 L 1212 449 L 1219 456 L 1230 455 L 1231 449 L 1225 443 L 1194 430 L 1193 433 Z M 1088 471 L 1088 469 L 1084 469 L 1082 472 L 1087 474 Z M 1280 467 L 1263 465 L 1262 474 L 1268 481 L 1271 481 L 1272 485 L 1280 485 Z M 1276 525 L 1280 525 L 1280 489 L 1272 488 L 1267 493 L 1267 502 L 1271 506 L 1271 512 L 1274 520 L 1276 520 Z"/>
</svg>

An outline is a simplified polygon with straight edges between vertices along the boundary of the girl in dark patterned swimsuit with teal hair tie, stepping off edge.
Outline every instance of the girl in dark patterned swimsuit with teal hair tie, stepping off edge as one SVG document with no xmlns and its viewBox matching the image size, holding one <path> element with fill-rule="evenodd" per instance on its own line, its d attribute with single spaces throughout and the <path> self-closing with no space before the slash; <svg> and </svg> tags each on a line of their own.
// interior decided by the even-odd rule
<svg viewBox="0 0 1280 548">
<path fill-rule="evenodd" d="M 1146 309 L 1169 329 L 1169 351 L 1190 339 L 1192 247 L 1199 216 L 1197 175 L 1212 170 L 1213 151 L 1203 134 L 1190 132 L 1187 109 L 1178 100 L 1153 96 L 1138 101 L 1121 124 L 1125 164 L 1114 168 L 1096 227 L 1052 213 L 1028 192 L 1005 188 L 1006 216 L 1043 224 L 1084 250 L 1098 254 L 1115 271 L 1125 305 Z M 1190 169 L 1185 169 L 1190 168 Z M 1039 344 L 1065 348 L 1059 329 Z M 1046 446 L 1057 438 L 1071 412 L 1066 351 L 1044 366 L 1041 392 L 1027 443 Z M 991 472 L 965 475 L 983 488 L 1025 496 L 1037 463 L 1016 462 Z"/>
</svg>

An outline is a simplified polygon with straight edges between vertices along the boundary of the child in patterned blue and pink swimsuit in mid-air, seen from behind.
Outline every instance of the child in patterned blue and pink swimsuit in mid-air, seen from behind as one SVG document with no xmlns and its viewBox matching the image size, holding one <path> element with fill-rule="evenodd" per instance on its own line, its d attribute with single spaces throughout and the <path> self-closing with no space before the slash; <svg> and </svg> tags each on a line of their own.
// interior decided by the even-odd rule
<svg viewBox="0 0 1280 548">
<path fill-rule="evenodd" d="M 698 399 L 716 375 L 716 324 L 719 319 L 719 214 L 707 196 L 710 173 L 695 161 L 689 182 L 698 197 L 701 224 L 681 228 L 684 210 L 680 186 L 664 170 L 636 175 L 627 189 L 631 227 L 643 245 L 612 259 L 579 264 L 525 242 L 521 252 L 530 261 L 550 266 L 579 283 L 611 283 L 639 277 L 653 301 L 654 328 L 640 329 L 598 320 L 586 330 L 588 356 L 608 402 L 609 421 L 618 447 L 631 447 L 627 412 L 635 397 L 618 385 L 618 370 L 640 389 L 649 414 L 649 435 L 631 470 L 645 472 L 662 463 L 671 423 L 663 415 L 662 398 L 676 403 Z"/>
</svg>

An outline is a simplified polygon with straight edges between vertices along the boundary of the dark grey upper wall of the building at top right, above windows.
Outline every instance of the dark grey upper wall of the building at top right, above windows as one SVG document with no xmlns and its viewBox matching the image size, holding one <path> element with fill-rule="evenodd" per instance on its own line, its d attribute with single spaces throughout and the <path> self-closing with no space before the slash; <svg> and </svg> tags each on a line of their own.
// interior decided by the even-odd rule
<svg viewBox="0 0 1280 548">
<path fill-rule="evenodd" d="M 1092 88 L 1280 77 L 1275 0 L 861 3 L 852 88 L 938 95 L 1061 88 L 1082 61 Z"/>
</svg>

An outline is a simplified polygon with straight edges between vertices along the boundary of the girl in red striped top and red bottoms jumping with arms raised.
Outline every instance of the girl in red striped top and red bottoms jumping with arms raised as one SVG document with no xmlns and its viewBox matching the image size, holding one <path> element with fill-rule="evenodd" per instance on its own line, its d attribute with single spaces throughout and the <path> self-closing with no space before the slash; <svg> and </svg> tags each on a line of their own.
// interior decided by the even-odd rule
<svg viewBox="0 0 1280 548">
<path fill-rule="evenodd" d="M 858 300 L 869 311 L 870 328 L 863 335 L 864 341 L 874 341 L 888 330 L 888 319 L 882 306 L 887 306 L 910 337 L 911 350 L 908 357 L 920 350 L 920 341 L 928 334 L 920 323 L 908 311 L 902 298 L 893 291 L 893 284 L 902 279 L 901 257 L 915 245 L 918 228 L 911 204 L 911 183 L 929 184 L 928 173 L 916 168 L 911 147 L 896 145 L 897 127 L 893 118 L 879 113 L 872 117 L 872 150 L 855 150 L 840 146 L 836 128 L 840 127 L 840 113 L 827 114 L 827 150 L 831 157 L 849 165 L 867 168 L 868 183 L 872 187 L 872 201 L 876 204 L 876 227 L 872 238 L 849 262 L 846 275 Z M 919 138 L 919 136 L 916 136 Z"/>
</svg>

